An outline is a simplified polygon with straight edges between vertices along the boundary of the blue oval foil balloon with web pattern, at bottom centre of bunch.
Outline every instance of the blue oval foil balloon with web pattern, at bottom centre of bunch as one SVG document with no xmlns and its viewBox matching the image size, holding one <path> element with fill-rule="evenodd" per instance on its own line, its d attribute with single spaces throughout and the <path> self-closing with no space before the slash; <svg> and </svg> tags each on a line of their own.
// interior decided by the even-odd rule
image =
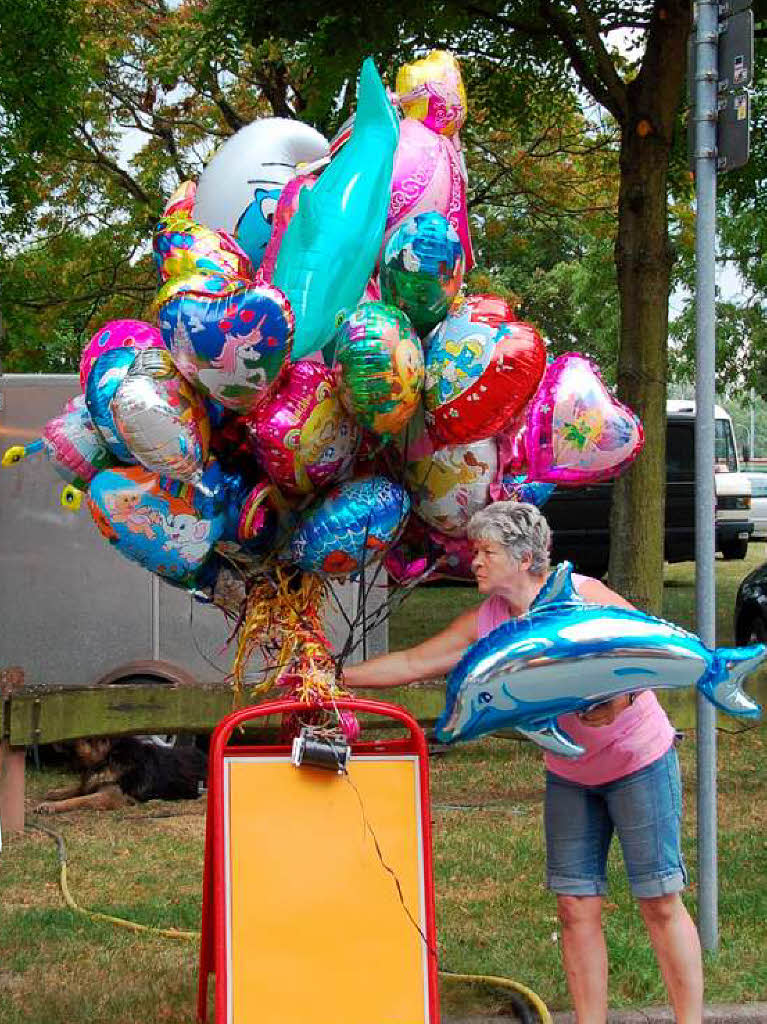
<svg viewBox="0 0 767 1024">
<path fill-rule="evenodd" d="M 340 483 L 303 514 L 286 555 L 307 572 L 356 573 L 394 543 L 410 505 L 404 488 L 383 476 Z"/>
</svg>

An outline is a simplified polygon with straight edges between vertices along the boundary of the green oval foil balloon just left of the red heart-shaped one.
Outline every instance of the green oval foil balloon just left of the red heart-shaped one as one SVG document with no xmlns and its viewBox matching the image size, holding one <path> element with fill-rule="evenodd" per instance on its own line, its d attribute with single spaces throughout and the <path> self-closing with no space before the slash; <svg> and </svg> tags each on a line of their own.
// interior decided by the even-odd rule
<svg viewBox="0 0 767 1024">
<path fill-rule="evenodd" d="M 418 335 L 394 306 L 363 302 L 336 335 L 341 401 L 379 435 L 397 433 L 418 408 L 424 357 Z"/>
</svg>

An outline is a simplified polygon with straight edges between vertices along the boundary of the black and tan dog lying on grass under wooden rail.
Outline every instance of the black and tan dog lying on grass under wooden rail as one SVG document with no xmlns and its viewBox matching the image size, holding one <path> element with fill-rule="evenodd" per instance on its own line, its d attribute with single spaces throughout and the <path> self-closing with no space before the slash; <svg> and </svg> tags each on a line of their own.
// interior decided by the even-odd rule
<svg viewBox="0 0 767 1024">
<path fill-rule="evenodd" d="M 72 744 L 78 785 L 51 790 L 35 810 L 115 810 L 147 800 L 194 800 L 208 759 L 197 746 L 163 746 L 134 736 L 90 736 Z"/>
</svg>

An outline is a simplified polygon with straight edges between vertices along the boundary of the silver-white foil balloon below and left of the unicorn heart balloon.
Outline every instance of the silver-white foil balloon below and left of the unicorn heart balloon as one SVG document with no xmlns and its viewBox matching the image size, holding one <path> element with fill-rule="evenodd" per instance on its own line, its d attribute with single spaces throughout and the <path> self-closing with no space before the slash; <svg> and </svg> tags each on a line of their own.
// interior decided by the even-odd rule
<svg viewBox="0 0 767 1024">
<path fill-rule="evenodd" d="M 112 399 L 112 414 L 120 437 L 146 469 L 201 480 L 210 443 L 205 401 L 166 348 L 136 355 Z"/>
</svg>

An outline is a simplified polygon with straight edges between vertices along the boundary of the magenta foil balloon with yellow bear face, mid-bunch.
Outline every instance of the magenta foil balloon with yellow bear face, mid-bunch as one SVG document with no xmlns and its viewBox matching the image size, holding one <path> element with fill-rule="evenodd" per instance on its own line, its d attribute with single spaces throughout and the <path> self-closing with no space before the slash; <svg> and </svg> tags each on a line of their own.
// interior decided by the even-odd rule
<svg viewBox="0 0 767 1024">
<path fill-rule="evenodd" d="M 349 474 L 361 428 L 341 406 L 333 371 L 310 359 L 287 370 L 247 419 L 260 465 L 288 494 L 309 494 Z"/>
</svg>

